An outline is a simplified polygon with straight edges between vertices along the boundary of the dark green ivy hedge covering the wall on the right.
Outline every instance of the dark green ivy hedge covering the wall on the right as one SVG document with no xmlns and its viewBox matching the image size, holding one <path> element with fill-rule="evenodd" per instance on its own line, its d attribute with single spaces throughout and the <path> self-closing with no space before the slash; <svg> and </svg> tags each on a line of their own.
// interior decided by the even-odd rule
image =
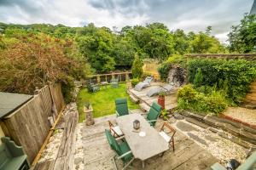
<svg viewBox="0 0 256 170">
<path fill-rule="evenodd" d="M 214 86 L 218 90 L 225 89 L 228 98 L 236 104 L 241 103 L 249 91 L 249 85 L 256 77 L 256 62 L 245 59 L 191 59 L 189 60 L 189 82 L 195 81 L 198 70 L 201 69 L 200 85 Z M 197 77 L 198 78 L 198 77 Z M 226 87 L 224 87 L 224 82 Z M 227 88 L 228 85 L 228 88 Z"/>
</svg>

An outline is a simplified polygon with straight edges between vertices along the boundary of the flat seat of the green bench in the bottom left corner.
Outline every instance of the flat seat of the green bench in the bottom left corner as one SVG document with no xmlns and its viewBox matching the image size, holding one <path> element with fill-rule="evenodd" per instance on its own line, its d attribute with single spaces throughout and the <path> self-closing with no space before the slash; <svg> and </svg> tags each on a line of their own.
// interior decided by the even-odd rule
<svg viewBox="0 0 256 170">
<path fill-rule="evenodd" d="M 24 156 L 17 156 L 14 157 L 12 159 L 10 159 L 8 162 L 6 162 L 6 164 L 1 167 L 1 169 L 3 170 L 18 170 L 20 169 L 20 165 L 22 165 L 22 163 L 26 161 L 26 155 Z"/>
</svg>

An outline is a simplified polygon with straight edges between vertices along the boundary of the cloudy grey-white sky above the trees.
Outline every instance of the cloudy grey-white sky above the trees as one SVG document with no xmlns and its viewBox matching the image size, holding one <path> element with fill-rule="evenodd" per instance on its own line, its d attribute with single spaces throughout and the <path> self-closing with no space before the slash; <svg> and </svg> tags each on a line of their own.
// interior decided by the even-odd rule
<svg viewBox="0 0 256 170">
<path fill-rule="evenodd" d="M 0 0 L 0 22 L 14 24 L 63 24 L 65 26 L 145 25 L 164 23 L 177 28 L 205 31 L 227 40 L 231 26 L 249 13 L 253 0 Z"/>
</svg>

